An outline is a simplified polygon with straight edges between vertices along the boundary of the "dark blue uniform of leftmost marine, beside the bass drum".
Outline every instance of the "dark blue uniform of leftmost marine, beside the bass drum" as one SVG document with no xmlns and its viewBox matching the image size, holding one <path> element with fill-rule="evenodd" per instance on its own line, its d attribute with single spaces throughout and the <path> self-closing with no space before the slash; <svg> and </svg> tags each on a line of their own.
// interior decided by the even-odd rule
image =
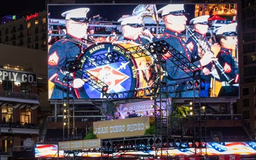
<svg viewBox="0 0 256 160">
<path fill-rule="evenodd" d="M 70 36 L 65 36 L 50 47 L 48 53 L 48 80 L 55 84 L 51 95 L 52 99 L 63 97 L 63 78 L 68 72 L 65 70 L 65 64 L 70 60 L 75 60 L 81 53 L 81 46 L 78 41 L 74 40 Z M 66 93 L 64 92 L 64 94 Z"/>
</svg>

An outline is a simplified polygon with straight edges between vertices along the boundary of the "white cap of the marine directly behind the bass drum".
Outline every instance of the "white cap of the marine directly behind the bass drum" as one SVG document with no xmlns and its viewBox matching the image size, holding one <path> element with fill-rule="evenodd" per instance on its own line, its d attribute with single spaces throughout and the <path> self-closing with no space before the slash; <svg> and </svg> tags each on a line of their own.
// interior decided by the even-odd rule
<svg viewBox="0 0 256 160">
<path fill-rule="evenodd" d="M 137 24 L 137 27 L 144 26 L 143 18 L 141 16 L 127 16 L 119 18 L 118 22 L 121 22 L 121 26 Z"/>
</svg>

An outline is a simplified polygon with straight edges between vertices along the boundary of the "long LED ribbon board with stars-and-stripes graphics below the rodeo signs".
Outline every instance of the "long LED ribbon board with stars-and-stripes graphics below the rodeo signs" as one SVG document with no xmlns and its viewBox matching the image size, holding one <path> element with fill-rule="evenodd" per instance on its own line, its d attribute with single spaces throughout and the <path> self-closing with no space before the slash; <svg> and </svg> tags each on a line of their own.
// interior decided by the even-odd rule
<svg viewBox="0 0 256 160">
<path fill-rule="evenodd" d="M 92 139 L 93 140 L 93 139 Z M 96 139 L 94 139 L 96 140 Z M 71 141 L 73 142 L 73 141 Z M 210 146 L 207 143 L 207 151 L 206 149 L 198 149 L 202 154 L 208 154 L 209 156 L 219 156 L 220 160 L 240 160 L 240 155 L 255 155 L 255 142 L 210 142 Z M 223 149 L 215 148 L 213 149 L 213 145 L 221 145 Z M 36 158 L 52 158 L 57 157 L 58 155 L 58 145 L 57 144 L 36 144 L 35 149 Z M 120 156 L 120 152 L 113 153 L 115 156 Z M 123 156 L 127 155 L 155 155 L 154 150 L 149 151 L 125 151 Z M 194 157 L 195 148 L 183 148 L 183 149 L 164 149 L 162 152 L 163 156 L 179 156 L 182 160 L 198 160 L 198 158 Z M 100 157 L 102 156 L 100 150 L 99 151 L 80 151 L 78 156 L 88 156 L 88 157 Z M 108 156 L 108 155 L 104 155 Z M 161 152 L 159 150 L 158 155 L 161 156 Z M 63 151 L 59 151 L 59 157 L 63 157 Z"/>
</svg>

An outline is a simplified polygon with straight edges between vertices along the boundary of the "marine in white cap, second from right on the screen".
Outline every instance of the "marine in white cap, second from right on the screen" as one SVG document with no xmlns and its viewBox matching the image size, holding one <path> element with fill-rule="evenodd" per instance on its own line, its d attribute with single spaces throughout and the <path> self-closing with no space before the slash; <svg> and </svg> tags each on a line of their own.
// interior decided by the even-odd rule
<svg viewBox="0 0 256 160">
<path fill-rule="evenodd" d="M 198 16 L 196 18 L 191 19 L 189 22 L 191 25 L 193 25 L 194 28 L 194 36 L 198 38 L 201 43 L 204 43 L 207 45 L 207 48 L 210 50 L 210 43 L 208 42 L 208 38 L 206 37 L 206 33 L 208 32 L 208 18 L 209 15 L 204 15 L 204 16 Z M 195 62 L 197 60 L 200 60 L 201 57 L 203 56 L 204 52 L 201 50 L 201 48 L 198 48 L 197 42 L 190 36 L 187 41 L 187 46 L 191 50 L 191 61 Z M 209 92 L 210 92 L 210 70 L 213 68 L 213 64 L 209 63 L 208 65 L 203 67 L 202 73 L 201 74 L 201 92 L 200 95 L 201 97 L 209 97 Z"/>
</svg>

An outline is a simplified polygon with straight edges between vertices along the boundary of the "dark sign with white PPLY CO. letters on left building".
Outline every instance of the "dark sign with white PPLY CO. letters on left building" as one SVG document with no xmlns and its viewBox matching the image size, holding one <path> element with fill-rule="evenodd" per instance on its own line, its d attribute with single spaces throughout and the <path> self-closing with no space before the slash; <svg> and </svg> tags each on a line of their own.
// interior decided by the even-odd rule
<svg viewBox="0 0 256 160">
<path fill-rule="evenodd" d="M 36 74 L 33 73 L 23 73 L 16 70 L 4 70 L 0 69 L 0 81 L 9 80 L 14 82 L 26 82 L 31 83 L 32 85 L 36 85 Z"/>
</svg>

